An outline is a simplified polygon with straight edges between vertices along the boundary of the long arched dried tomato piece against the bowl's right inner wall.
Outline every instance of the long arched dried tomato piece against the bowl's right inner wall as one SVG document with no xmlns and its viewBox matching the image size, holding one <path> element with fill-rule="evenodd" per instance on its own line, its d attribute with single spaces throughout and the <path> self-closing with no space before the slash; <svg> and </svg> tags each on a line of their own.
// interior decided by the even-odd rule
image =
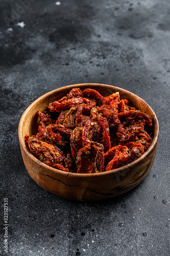
<svg viewBox="0 0 170 256">
<path fill-rule="evenodd" d="M 129 110 L 118 113 L 119 118 L 126 118 L 127 120 L 135 119 L 136 121 L 145 120 L 149 126 L 152 126 L 152 118 L 150 115 L 141 112 L 140 110 Z"/>
</svg>

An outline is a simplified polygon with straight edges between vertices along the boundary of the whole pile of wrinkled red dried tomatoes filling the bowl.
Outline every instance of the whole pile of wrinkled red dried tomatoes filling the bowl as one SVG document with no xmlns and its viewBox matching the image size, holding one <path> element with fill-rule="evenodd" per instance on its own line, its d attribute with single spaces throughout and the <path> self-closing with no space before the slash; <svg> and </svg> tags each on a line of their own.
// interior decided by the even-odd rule
<svg viewBox="0 0 170 256">
<path fill-rule="evenodd" d="M 72 89 L 37 111 L 37 135 L 25 136 L 43 163 L 74 173 L 107 172 L 140 157 L 152 142 L 152 118 L 129 106 L 119 93 Z"/>
</svg>

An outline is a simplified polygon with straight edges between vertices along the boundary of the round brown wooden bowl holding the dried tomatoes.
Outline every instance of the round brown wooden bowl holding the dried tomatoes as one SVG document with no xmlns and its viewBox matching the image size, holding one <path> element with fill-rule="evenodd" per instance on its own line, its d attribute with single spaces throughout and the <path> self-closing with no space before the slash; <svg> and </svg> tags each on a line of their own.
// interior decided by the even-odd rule
<svg viewBox="0 0 170 256">
<path fill-rule="evenodd" d="M 36 111 L 44 111 L 48 103 L 59 100 L 72 88 L 94 89 L 103 96 L 119 92 L 120 99 L 126 98 L 141 112 L 147 113 L 153 120 L 153 141 L 148 150 L 138 159 L 123 167 L 103 173 L 76 174 L 67 173 L 50 167 L 34 157 L 25 143 L 25 135 L 37 133 L 38 118 Z M 78 201 L 96 201 L 109 199 L 126 193 L 138 185 L 149 173 L 154 162 L 159 124 L 151 107 L 137 95 L 122 88 L 98 83 L 74 84 L 48 92 L 35 100 L 23 113 L 18 128 L 19 143 L 23 162 L 33 180 L 47 191 L 66 199 Z"/>
</svg>

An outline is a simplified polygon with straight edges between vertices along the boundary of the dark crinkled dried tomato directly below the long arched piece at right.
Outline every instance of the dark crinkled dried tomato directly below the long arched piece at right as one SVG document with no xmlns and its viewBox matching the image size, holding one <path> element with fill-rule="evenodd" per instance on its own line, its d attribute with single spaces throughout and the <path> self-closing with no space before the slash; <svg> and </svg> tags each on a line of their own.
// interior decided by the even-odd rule
<svg viewBox="0 0 170 256">
<path fill-rule="evenodd" d="M 117 138 L 119 142 L 125 142 L 133 140 L 139 132 L 144 129 L 145 121 L 127 120 L 118 125 Z"/>
</svg>

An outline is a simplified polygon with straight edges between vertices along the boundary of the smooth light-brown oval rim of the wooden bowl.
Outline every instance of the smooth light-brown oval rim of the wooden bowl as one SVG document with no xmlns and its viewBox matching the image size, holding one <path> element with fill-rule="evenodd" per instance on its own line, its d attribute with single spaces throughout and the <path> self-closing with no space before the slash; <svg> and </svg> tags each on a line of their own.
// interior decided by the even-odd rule
<svg viewBox="0 0 170 256">
<path fill-rule="evenodd" d="M 41 162 L 39 159 L 37 159 L 34 155 L 31 154 L 31 152 L 29 151 L 28 147 L 26 146 L 26 142 L 25 140 L 23 139 L 23 135 L 22 135 L 22 125 L 23 125 L 23 122 L 25 120 L 25 117 L 27 116 L 27 113 L 30 111 L 30 109 L 37 103 L 37 101 L 43 99 L 44 97 L 48 97 L 50 95 L 52 95 L 53 93 L 55 93 L 56 91 L 60 91 L 62 90 L 63 88 L 65 89 L 72 89 L 72 88 L 77 88 L 77 87 L 84 87 L 84 86 L 103 86 L 103 87 L 110 87 L 111 88 L 114 88 L 115 90 L 117 91 L 122 91 L 122 92 L 125 92 L 125 93 L 128 93 L 130 94 L 132 97 L 137 97 L 138 99 L 140 99 L 140 101 L 142 101 L 146 106 L 147 106 L 147 109 L 150 109 L 151 112 L 153 113 L 154 115 L 154 118 L 155 118 L 155 125 L 156 125 L 156 128 L 157 128 L 157 131 L 156 131 L 156 134 L 153 138 L 153 141 L 150 145 L 150 147 L 148 148 L 148 150 L 146 152 L 144 152 L 144 154 L 142 156 L 140 156 L 139 158 L 137 158 L 136 160 L 134 160 L 133 162 L 129 163 L 129 164 L 126 164 L 122 167 L 119 167 L 119 168 L 115 168 L 113 170 L 108 170 L 107 172 L 101 172 L 101 173 L 91 173 L 91 174 L 81 174 L 81 173 L 71 173 L 71 172 L 65 172 L 64 170 L 59 170 L 57 168 L 53 168 L 47 164 L 44 164 L 43 162 Z M 18 125 L 18 138 L 19 138 L 19 142 L 20 142 L 20 146 L 22 145 L 22 149 L 26 152 L 27 155 L 29 155 L 29 157 L 32 158 L 32 160 L 38 164 L 40 164 L 42 167 L 45 167 L 47 169 L 50 169 L 52 172 L 54 173 L 59 173 L 59 174 L 62 174 L 64 176 L 75 176 L 75 177 L 91 177 L 91 176 L 101 176 L 101 175 L 108 175 L 108 174 L 111 174 L 111 173 L 118 173 L 118 172 L 121 172 L 121 171 L 124 171 L 125 169 L 127 168 L 130 168 L 132 167 L 133 165 L 137 164 L 138 162 L 140 162 L 141 160 L 143 160 L 145 158 L 145 156 L 149 155 L 149 153 L 153 150 L 153 148 L 155 147 L 157 141 L 158 141 L 158 136 L 159 136 L 159 123 L 158 123 L 158 119 L 157 119 L 157 116 L 155 114 L 155 112 L 153 111 L 153 109 L 151 108 L 151 106 L 145 102 L 142 98 L 140 98 L 139 96 L 137 96 L 136 94 L 126 90 L 126 89 L 123 89 L 123 88 L 119 88 L 119 87 L 115 87 L 115 86 L 111 86 L 109 84 L 103 84 L 103 83 L 76 83 L 76 84 L 71 84 L 69 86 L 64 86 L 64 87 L 60 87 L 60 88 L 57 88 L 55 90 L 52 90 L 50 92 L 47 92 L 45 94 L 43 94 L 42 96 L 40 96 L 39 98 L 37 98 L 36 100 L 34 100 L 29 106 L 28 108 L 25 110 L 25 112 L 23 112 L 21 118 L 20 118 L 20 121 L 19 121 L 19 125 Z"/>
</svg>

